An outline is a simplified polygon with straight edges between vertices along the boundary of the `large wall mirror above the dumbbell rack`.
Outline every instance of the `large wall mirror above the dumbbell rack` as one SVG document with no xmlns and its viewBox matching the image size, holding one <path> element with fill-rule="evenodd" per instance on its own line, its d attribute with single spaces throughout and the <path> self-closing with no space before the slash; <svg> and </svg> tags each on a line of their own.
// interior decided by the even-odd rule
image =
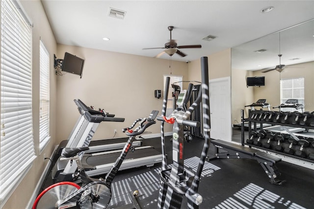
<svg viewBox="0 0 314 209">
<path fill-rule="evenodd" d="M 247 117 L 245 105 L 259 99 L 278 110 L 273 107 L 298 97 L 304 111 L 314 111 L 314 20 L 236 46 L 231 52 L 233 124 L 241 122 L 241 109 Z M 264 86 L 247 87 L 247 77 L 264 77 Z M 291 84 L 285 86 L 286 81 Z"/>
</svg>

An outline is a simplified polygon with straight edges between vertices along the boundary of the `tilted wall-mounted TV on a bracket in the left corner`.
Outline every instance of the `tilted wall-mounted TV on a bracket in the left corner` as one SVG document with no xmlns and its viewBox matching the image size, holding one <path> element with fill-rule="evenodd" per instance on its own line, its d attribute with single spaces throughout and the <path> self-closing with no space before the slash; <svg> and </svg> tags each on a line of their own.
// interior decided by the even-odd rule
<svg viewBox="0 0 314 209">
<path fill-rule="evenodd" d="M 84 59 L 77 57 L 76 55 L 70 54 L 68 52 L 64 53 L 64 58 L 62 60 L 62 71 L 73 73 L 79 75 L 82 78 L 84 66 Z"/>
</svg>

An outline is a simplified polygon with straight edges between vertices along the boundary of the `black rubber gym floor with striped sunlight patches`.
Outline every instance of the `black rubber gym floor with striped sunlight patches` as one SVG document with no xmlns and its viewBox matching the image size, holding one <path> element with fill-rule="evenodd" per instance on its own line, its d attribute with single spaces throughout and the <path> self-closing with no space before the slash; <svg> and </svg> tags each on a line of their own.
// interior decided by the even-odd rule
<svg viewBox="0 0 314 209">
<path fill-rule="evenodd" d="M 234 135 L 236 136 L 236 134 Z M 172 142 L 166 137 L 168 163 L 172 159 Z M 160 138 L 143 140 L 143 145 L 152 145 L 160 151 Z M 203 139 L 194 138 L 184 147 L 184 164 L 197 167 L 203 148 Z M 209 156 L 214 149 L 209 147 Z M 141 208 L 157 208 L 158 169 L 161 163 L 151 168 L 141 167 L 119 171 L 112 185 L 112 199 L 108 208 L 118 208 L 131 203 L 128 193 L 139 191 Z M 314 170 L 279 162 L 279 179 L 283 185 L 268 182 L 268 177 L 256 160 L 216 159 L 206 162 L 199 186 L 203 196 L 200 209 L 314 209 Z M 48 178 L 49 179 L 49 178 Z M 49 184 L 49 180 L 46 185 Z M 186 209 L 183 198 L 182 209 Z"/>
</svg>

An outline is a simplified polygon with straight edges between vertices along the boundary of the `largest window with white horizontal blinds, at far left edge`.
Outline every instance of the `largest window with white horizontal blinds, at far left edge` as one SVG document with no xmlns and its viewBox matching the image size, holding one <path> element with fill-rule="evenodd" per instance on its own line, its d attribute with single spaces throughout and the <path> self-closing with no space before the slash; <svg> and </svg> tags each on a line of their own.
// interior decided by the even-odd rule
<svg viewBox="0 0 314 209">
<path fill-rule="evenodd" d="M 19 9 L 17 9 L 19 8 Z M 31 28 L 18 1 L 1 1 L 0 208 L 35 158 Z"/>
</svg>

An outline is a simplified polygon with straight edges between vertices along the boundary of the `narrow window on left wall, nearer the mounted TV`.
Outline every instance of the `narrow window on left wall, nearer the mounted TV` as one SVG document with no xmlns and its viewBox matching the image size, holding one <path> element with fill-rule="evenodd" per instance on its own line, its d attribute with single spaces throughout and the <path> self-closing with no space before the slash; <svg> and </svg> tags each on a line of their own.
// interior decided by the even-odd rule
<svg viewBox="0 0 314 209">
<path fill-rule="evenodd" d="M 50 139 L 49 134 L 49 53 L 40 41 L 40 119 L 39 147 L 42 150 Z"/>
</svg>

